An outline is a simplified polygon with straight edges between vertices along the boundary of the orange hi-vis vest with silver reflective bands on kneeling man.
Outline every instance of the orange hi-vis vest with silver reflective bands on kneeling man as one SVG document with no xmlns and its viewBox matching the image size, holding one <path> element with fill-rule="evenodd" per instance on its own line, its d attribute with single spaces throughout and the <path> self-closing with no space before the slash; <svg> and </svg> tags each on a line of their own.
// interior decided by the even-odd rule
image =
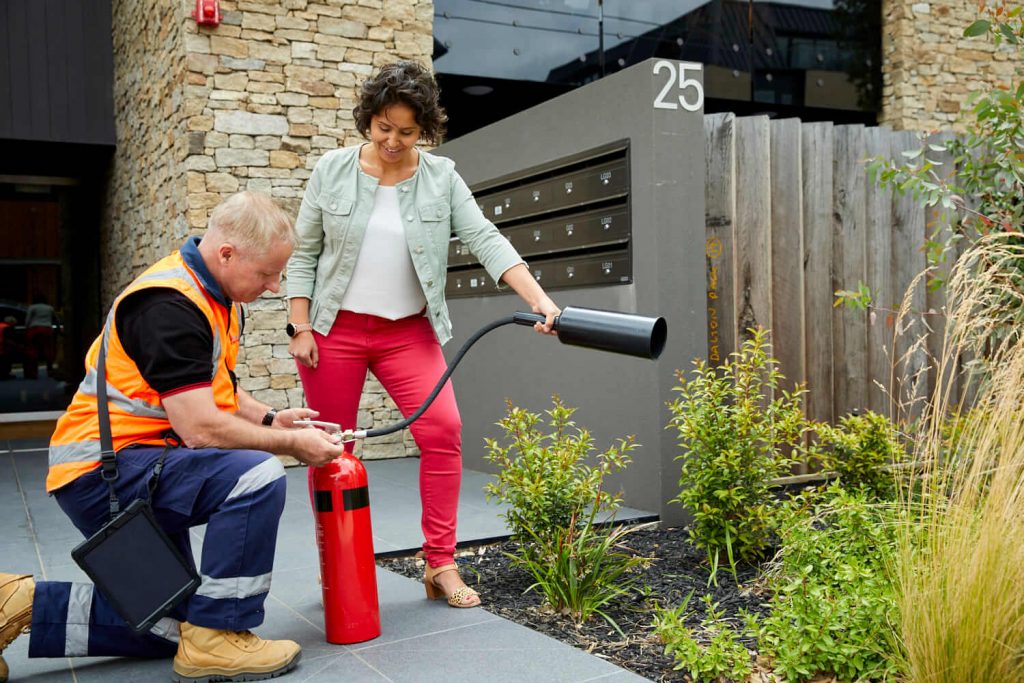
<svg viewBox="0 0 1024 683">
<path fill-rule="evenodd" d="M 206 315 L 213 330 L 213 357 L 210 378 L 217 408 L 228 413 L 239 410 L 232 373 L 239 355 L 239 316 L 207 292 L 187 266 L 180 252 L 167 256 L 118 296 L 106 315 L 103 332 L 85 356 L 85 379 L 79 385 L 68 412 L 57 420 L 50 439 L 50 469 L 47 493 L 74 481 L 99 467 L 99 416 L 96 403 L 96 361 L 99 345 L 106 345 L 106 396 L 110 401 L 114 451 L 132 444 L 162 445 L 171 428 L 160 395 L 151 387 L 135 361 L 125 352 L 115 325 L 118 305 L 124 298 L 150 287 L 181 292 Z"/>
</svg>

